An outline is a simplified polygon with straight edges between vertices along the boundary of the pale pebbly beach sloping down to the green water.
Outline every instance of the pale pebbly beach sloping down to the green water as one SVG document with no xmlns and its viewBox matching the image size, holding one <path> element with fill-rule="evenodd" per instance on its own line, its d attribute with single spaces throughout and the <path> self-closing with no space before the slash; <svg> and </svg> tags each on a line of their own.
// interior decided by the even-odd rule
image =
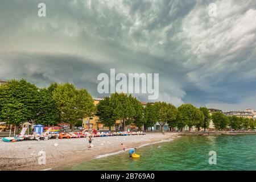
<svg viewBox="0 0 256 182">
<path fill-rule="evenodd" d="M 74 164 L 122 150 L 121 143 L 126 147 L 138 147 L 143 144 L 174 139 L 177 134 L 146 134 L 119 137 L 93 138 L 93 147 L 88 149 L 88 138 L 24 140 L 6 143 L 0 141 L 1 170 L 59 170 Z M 46 152 L 46 164 L 38 164 L 38 152 Z"/>
</svg>

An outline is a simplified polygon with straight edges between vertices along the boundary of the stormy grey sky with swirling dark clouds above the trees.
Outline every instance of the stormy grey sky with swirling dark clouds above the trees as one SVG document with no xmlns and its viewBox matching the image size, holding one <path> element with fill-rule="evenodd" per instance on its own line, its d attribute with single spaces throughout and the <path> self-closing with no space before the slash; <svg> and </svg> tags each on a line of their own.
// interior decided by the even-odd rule
<svg viewBox="0 0 256 182">
<path fill-rule="evenodd" d="M 72 82 L 102 97 L 97 75 L 110 68 L 159 73 L 160 101 L 256 109 L 255 34 L 255 0 L 1 0 L 0 79 Z"/>
</svg>

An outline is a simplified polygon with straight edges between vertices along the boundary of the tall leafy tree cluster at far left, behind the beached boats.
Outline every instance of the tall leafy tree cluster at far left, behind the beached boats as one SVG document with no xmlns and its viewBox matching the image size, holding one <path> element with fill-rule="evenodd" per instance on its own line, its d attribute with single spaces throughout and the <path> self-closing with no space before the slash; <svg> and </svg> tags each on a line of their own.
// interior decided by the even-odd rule
<svg viewBox="0 0 256 182">
<path fill-rule="evenodd" d="M 48 126 L 64 121 L 73 130 L 79 119 L 93 112 L 92 96 L 69 83 L 38 88 L 26 80 L 11 80 L 0 86 L 0 120 L 7 125 L 32 121 Z"/>
</svg>

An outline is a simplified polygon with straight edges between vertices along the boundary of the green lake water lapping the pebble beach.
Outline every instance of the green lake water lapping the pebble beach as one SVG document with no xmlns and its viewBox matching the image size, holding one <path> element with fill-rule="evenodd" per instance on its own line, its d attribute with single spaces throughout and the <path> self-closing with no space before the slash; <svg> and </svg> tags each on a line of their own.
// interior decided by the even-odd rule
<svg viewBox="0 0 256 182">
<path fill-rule="evenodd" d="M 209 164 L 216 151 L 217 164 Z M 256 170 L 256 135 L 180 137 L 172 142 L 137 149 L 139 159 L 128 151 L 77 164 L 69 170 Z"/>
</svg>

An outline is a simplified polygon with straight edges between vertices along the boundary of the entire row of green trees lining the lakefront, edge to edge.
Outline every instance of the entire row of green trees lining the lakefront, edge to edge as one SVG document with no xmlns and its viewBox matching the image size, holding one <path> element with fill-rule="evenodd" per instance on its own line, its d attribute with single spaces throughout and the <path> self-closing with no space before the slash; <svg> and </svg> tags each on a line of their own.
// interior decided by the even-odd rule
<svg viewBox="0 0 256 182">
<path fill-rule="evenodd" d="M 114 93 L 94 106 L 92 96 L 85 89 L 74 85 L 51 84 L 48 88 L 38 88 L 26 80 L 11 80 L 0 86 L 0 120 L 10 125 L 21 125 L 32 121 L 44 126 L 55 125 L 59 121 L 68 122 L 72 131 L 82 118 L 98 115 L 106 127 L 122 122 L 123 130 L 131 124 L 141 128 L 153 127 L 157 122 L 162 131 L 168 123 L 171 130 L 183 130 L 185 126 L 198 130 L 209 127 L 212 119 L 217 130 L 230 126 L 234 130 L 254 129 L 254 119 L 226 117 L 213 113 L 210 117 L 206 107 L 197 109 L 191 104 L 175 107 L 166 102 L 148 103 L 143 107 L 137 98 Z M 16 127 L 18 128 L 18 127 Z"/>
</svg>

